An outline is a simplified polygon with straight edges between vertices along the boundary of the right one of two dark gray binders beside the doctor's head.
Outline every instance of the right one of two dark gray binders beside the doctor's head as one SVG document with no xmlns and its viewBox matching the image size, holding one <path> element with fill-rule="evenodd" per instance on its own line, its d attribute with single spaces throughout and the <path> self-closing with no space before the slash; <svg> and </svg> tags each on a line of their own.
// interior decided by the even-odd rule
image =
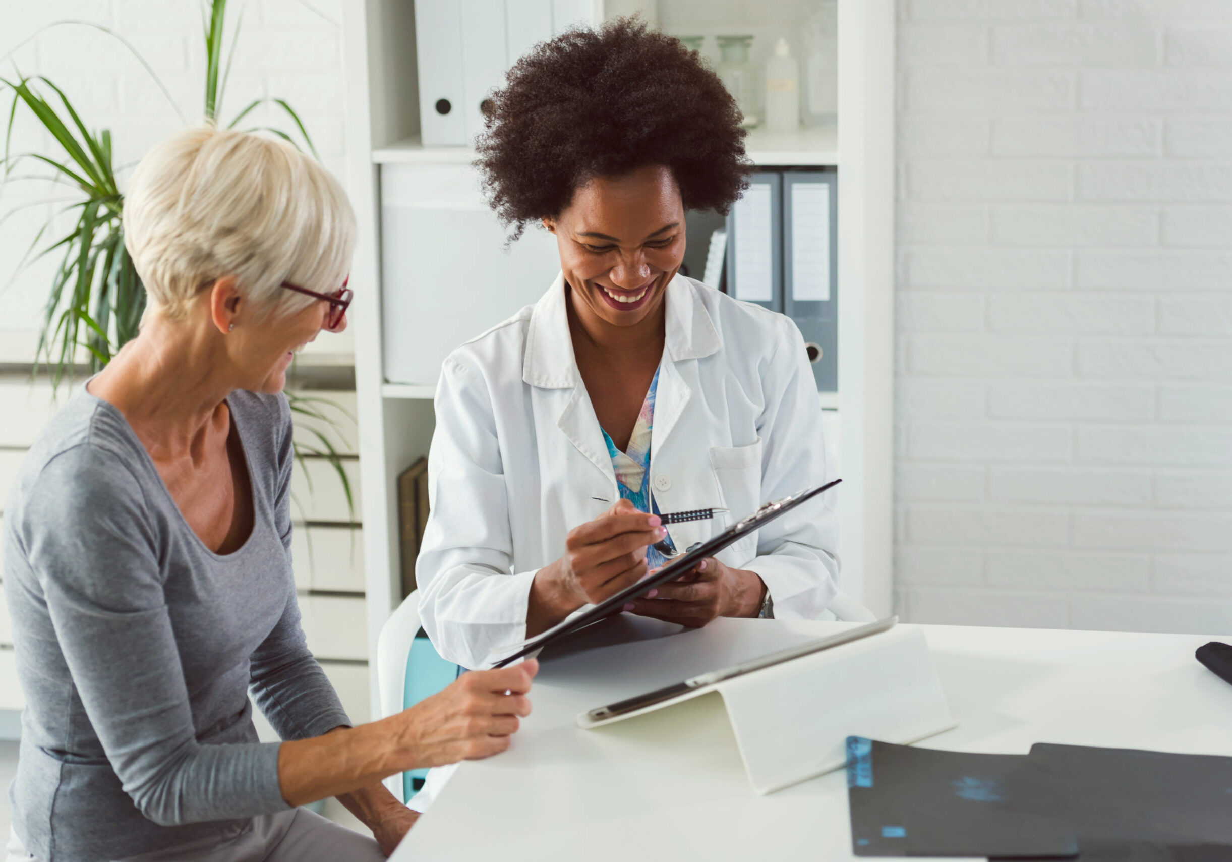
<svg viewBox="0 0 1232 862">
<path fill-rule="evenodd" d="M 838 174 L 782 175 L 782 310 L 800 326 L 818 392 L 838 392 Z"/>
</svg>

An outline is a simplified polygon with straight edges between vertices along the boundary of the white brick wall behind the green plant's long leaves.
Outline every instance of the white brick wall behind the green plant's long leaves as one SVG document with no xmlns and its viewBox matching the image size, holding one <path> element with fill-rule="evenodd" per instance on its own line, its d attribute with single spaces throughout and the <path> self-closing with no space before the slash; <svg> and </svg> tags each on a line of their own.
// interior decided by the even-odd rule
<svg viewBox="0 0 1232 862">
<path fill-rule="evenodd" d="M 229 6 L 234 27 L 243 28 L 223 105 L 229 121 L 256 97 L 285 97 L 301 115 L 313 143 L 335 176 L 345 182 L 341 20 L 342 0 L 246 0 Z M 142 53 L 179 103 L 184 116 L 201 118 L 205 52 L 197 0 L 0 0 L 0 57 L 42 27 L 63 20 L 91 21 L 118 31 Z M 14 55 L 23 74 L 44 74 L 73 100 L 91 129 L 110 128 L 116 164 L 131 165 L 158 140 L 181 128 L 181 121 L 149 74 L 106 33 L 59 26 L 39 34 Z M 11 74 L 5 64 L 2 73 Z M 51 94 L 47 94 L 51 96 Z M 5 92 L 4 122 L 10 94 Z M 18 116 L 22 116 L 18 112 Z M 244 126 L 291 123 L 260 110 Z M 15 149 L 55 153 L 28 121 L 18 126 Z M 39 174 L 32 165 L 25 174 Z M 0 218 L 15 207 L 47 197 L 64 198 L 62 188 L 30 181 L 11 182 L 0 192 Z M 18 261 L 49 206 L 21 211 L 0 222 L 0 363 L 28 362 L 36 344 L 43 300 L 51 283 L 47 260 L 12 280 Z M 67 229 L 67 224 L 64 228 Z"/>
</svg>

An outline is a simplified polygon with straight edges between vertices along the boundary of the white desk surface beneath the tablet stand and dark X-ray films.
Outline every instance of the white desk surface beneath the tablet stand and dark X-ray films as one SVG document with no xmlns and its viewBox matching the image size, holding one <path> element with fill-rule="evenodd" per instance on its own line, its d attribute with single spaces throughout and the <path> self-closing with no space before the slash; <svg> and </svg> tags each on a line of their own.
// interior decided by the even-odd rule
<svg viewBox="0 0 1232 862">
<path fill-rule="evenodd" d="M 590 640 L 664 633 L 649 622 L 618 618 Z M 546 660 L 535 714 L 510 750 L 463 763 L 393 860 L 855 858 L 844 772 L 755 796 L 707 698 L 598 730 L 574 725 L 584 709 L 844 626 L 718 619 Z M 1232 755 L 1232 686 L 1194 659 L 1211 638 L 924 630 L 962 722 L 924 746 L 1025 754 L 1048 741 Z"/>
</svg>

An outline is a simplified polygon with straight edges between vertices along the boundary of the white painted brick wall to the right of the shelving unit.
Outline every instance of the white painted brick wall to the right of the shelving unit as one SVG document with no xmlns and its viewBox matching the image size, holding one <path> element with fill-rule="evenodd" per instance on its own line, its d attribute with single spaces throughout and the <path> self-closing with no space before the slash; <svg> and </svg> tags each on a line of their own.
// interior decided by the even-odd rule
<svg viewBox="0 0 1232 862">
<path fill-rule="evenodd" d="M 1232 2 L 899 7 L 901 612 L 1232 630 Z"/>
</svg>

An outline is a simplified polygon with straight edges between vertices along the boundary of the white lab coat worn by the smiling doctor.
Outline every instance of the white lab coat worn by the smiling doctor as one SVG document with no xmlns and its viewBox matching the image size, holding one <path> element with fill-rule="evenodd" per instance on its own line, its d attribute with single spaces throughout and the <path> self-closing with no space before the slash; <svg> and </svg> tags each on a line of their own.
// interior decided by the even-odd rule
<svg viewBox="0 0 1232 862">
<path fill-rule="evenodd" d="M 620 499 L 573 356 L 563 277 L 445 360 L 428 473 L 431 516 L 415 566 L 423 626 L 446 660 L 485 667 L 489 650 L 526 637 L 535 573 L 564 553 L 569 530 L 611 505 L 594 497 Z M 676 547 L 832 478 L 796 325 L 676 276 L 650 486 L 664 512 L 729 510 L 669 527 Z M 830 500 L 804 504 L 718 554 L 761 576 L 775 617 L 817 618 L 834 596 Z"/>
</svg>

